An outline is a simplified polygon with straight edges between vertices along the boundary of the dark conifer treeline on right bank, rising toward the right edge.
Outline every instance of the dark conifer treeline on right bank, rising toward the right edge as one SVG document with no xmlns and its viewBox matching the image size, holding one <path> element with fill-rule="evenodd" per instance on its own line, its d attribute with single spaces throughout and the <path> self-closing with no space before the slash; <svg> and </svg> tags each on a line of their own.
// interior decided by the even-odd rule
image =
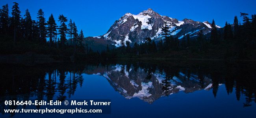
<svg viewBox="0 0 256 118">
<path fill-rule="evenodd" d="M 250 19 L 248 14 L 241 13 L 243 23 L 237 16 L 234 23 L 226 22 L 224 28 L 217 29 L 212 21 L 210 36 L 199 31 L 197 38 L 173 38 L 167 25 L 162 27 L 162 39 L 158 42 L 146 38 L 145 43 L 121 41 L 119 48 L 102 52 L 106 58 L 166 57 L 166 58 L 208 58 L 208 59 L 256 59 L 256 15 Z"/>
</svg>

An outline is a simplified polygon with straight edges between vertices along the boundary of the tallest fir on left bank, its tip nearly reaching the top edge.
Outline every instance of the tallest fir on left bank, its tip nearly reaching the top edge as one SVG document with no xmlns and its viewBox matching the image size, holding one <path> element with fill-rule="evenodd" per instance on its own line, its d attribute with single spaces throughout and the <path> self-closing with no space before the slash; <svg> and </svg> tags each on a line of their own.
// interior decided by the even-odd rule
<svg viewBox="0 0 256 118">
<path fill-rule="evenodd" d="M 20 26 L 20 8 L 17 2 L 13 2 L 12 12 L 11 12 L 11 29 L 13 30 L 13 44 L 16 45 L 17 41 L 17 31 Z"/>
</svg>

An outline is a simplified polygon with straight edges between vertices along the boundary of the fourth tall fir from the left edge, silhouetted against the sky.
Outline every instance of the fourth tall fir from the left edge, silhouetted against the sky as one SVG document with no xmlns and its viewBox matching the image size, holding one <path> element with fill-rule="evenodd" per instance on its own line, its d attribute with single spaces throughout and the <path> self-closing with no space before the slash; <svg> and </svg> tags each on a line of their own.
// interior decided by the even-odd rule
<svg viewBox="0 0 256 118">
<path fill-rule="evenodd" d="M 46 22 L 45 14 L 42 9 L 39 9 L 37 13 L 38 28 L 39 28 L 39 39 L 42 43 L 46 43 Z"/>
</svg>

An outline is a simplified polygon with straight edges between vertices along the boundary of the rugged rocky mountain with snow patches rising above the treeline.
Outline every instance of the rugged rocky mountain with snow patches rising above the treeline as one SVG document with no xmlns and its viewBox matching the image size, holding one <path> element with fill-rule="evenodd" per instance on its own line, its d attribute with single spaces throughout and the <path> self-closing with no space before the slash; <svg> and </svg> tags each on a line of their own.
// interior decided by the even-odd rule
<svg viewBox="0 0 256 118">
<path fill-rule="evenodd" d="M 115 21 L 106 34 L 94 38 L 113 41 L 115 46 L 120 46 L 121 40 L 129 41 L 131 44 L 143 43 L 147 37 L 159 41 L 162 38 L 160 36 L 161 27 L 165 23 L 170 27 L 171 35 L 178 39 L 182 39 L 187 34 L 191 38 L 195 38 L 199 31 L 203 34 L 211 32 L 211 23 L 208 21 L 200 22 L 190 19 L 179 21 L 168 16 L 161 16 L 152 9 L 147 9 L 137 15 L 124 14 Z M 221 27 L 217 26 L 217 28 Z"/>
</svg>

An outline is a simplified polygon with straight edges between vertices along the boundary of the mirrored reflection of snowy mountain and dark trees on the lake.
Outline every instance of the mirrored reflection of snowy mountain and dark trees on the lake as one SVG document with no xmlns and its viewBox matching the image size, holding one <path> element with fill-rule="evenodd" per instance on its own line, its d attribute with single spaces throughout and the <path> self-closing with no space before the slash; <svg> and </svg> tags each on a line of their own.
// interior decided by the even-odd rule
<svg viewBox="0 0 256 118">
<path fill-rule="evenodd" d="M 256 102 L 256 69 L 253 64 L 165 64 L 134 61 L 50 66 L 1 64 L 1 67 L 2 113 L 4 100 L 63 101 L 72 98 L 86 79 L 83 74 L 103 76 L 123 97 L 139 98 L 150 104 L 160 97 L 179 91 L 192 93 L 212 89 L 213 97 L 217 97 L 219 86 L 225 86 L 227 94 L 235 92 L 237 100 L 240 100 L 241 95 L 245 96 L 244 107 Z M 17 106 L 11 107 L 15 109 Z"/>
</svg>

